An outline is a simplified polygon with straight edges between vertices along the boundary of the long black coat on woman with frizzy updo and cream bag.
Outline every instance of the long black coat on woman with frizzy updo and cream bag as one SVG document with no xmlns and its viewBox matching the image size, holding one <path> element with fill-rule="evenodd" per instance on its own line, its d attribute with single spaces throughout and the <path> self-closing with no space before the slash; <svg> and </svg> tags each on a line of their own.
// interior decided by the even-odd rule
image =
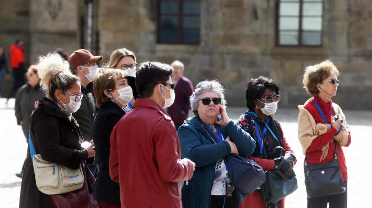
<svg viewBox="0 0 372 208">
<path fill-rule="evenodd" d="M 30 119 L 30 134 L 36 154 L 44 160 L 77 169 L 88 158 L 80 142 L 83 137 L 76 120 L 71 120 L 52 100 L 39 100 L 38 108 Z M 20 191 L 20 208 L 51 207 L 48 195 L 40 192 L 35 182 L 35 172 L 28 146 Z M 93 158 L 93 157 L 92 157 Z M 94 158 L 93 158 L 94 159 Z"/>
</svg>

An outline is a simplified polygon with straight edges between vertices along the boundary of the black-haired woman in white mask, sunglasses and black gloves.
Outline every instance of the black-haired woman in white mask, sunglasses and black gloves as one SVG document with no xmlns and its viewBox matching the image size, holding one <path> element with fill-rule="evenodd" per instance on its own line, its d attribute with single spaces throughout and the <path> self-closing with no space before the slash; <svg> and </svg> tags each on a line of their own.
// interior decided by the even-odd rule
<svg viewBox="0 0 372 208">
<path fill-rule="evenodd" d="M 265 172 L 281 172 L 288 179 L 292 179 L 295 176 L 292 167 L 296 157 L 283 135 L 279 122 L 273 119 L 280 100 L 279 87 L 275 81 L 267 77 L 251 79 L 247 84 L 246 100 L 248 111 L 240 116 L 237 124 L 256 140 L 256 148 L 250 159 L 258 163 Z M 276 151 L 280 147 L 284 149 L 282 154 Z M 284 156 L 281 156 L 283 154 Z M 246 195 L 241 207 L 284 207 L 284 199 L 275 204 L 266 204 L 261 191 L 257 189 Z"/>
</svg>

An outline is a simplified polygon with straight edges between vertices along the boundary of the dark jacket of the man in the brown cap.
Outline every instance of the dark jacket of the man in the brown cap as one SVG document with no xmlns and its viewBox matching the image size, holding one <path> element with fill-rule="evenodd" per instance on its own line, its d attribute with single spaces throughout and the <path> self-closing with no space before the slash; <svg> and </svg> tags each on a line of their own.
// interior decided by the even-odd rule
<svg viewBox="0 0 372 208">
<path fill-rule="evenodd" d="M 93 139 L 93 121 L 94 116 L 96 115 L 93 83 L 89 83 L 86 88 L 81 86 L 81 93 L 84 95 L 83 99 L 81 99 L 81 106 L 72 115 L 79 124 L 84 140 L 90 141 Z"/>
</svg>

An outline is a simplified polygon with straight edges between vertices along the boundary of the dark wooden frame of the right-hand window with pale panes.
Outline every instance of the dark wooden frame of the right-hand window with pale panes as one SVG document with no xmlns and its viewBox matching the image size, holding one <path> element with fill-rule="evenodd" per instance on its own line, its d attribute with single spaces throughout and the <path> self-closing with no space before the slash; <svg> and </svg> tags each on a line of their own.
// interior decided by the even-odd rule
<svg viewBox="0 0 372 208">
<path fill-rule="evenodd" d="M 285 0 L 284 0 L 285 1 Z M 290 1 L 288 1 L 290 2 Z M 309 1 L 312 2 L 312 1 Z M 319 0 L 314 0 L 313 2 L 319 2 Z M 302 5 L 304 0 L 299 0 L 299 20 L 298 20 L 298 44 L 297 45 L 283 45 L 279 44 L 279 8 L 280 8 L 280 0 L 275 1 L 275 46 L 276 47 L 311 47 L 311 48 L 320 48 L 323 47 L 323 17 L 324 17 L 324 0 L 321 0 L 322 3 L 322 15 L 317 17 L 321 17 L 322 20 L 322 29 L 320 30 L 320 45 L 304 45 L 302 44 Z"/>
</svg>

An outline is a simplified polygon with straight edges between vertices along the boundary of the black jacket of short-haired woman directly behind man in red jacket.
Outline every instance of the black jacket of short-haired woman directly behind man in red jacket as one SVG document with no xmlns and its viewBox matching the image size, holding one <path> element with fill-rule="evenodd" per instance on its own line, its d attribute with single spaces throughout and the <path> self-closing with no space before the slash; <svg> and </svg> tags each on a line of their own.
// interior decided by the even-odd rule
<svg viewBox="0 0 372 208">
<path fill-rule="evenodd" d="M 109 101 L 99 108 L 93 124 L 93 141 L 96 154 L 100 159 L 99 172 L 94 183 L 94 197 L 98 201 L 120 204 L 119 183 L 110 178 L 110 134 L 116 123 L 125 115 L 127 110 L 121 109 Z"/>
</svg>

